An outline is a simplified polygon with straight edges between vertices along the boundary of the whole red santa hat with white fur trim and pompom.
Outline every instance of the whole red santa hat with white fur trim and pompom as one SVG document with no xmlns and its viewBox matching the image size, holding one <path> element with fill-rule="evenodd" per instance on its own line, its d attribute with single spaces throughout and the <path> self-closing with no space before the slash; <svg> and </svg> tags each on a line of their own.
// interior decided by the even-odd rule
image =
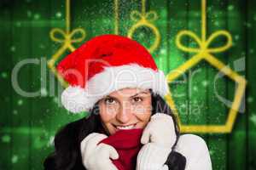
<svg viewBox="0 0 256 170">
<path fill-rule="evenodd" d="M 164 97 L 168 84 L 148 50 L 128 37 L 90 39 L 57 65 L 69 86 L 61 103 L 73 113 L 90 111 L 99 99 L 122 88 L 151 88 Z"/>
</svg>

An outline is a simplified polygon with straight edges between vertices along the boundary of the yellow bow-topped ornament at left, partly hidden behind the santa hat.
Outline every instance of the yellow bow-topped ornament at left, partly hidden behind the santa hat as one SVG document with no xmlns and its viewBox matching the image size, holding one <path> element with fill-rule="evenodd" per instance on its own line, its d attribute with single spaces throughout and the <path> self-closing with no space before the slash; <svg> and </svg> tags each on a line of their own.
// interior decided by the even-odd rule
<svg viewBox="0 0 256 170">
<path fill-rule="evenodd" d="M 76 34 L 80 33 L 80 37 L 74 38 Z M 60 37 L 58 37 L 61 36 Z M 70 31 L 70 0 L 66 0 L 66 30 L 62 30 L 60 28 L 53 28 L 49 32 L 49 37 L 54 42 L 62 43 L 61 48 L 57 50 L 55 54 L 51 56 L 48 60 L 47 64 L 50 69 L 57 77 L 58 81 L 61 82 L 63 87 L 67 87 L 67 82 L 61 77 L 61 75 L 56 71 L 55 63 L 57 59 L 61 57 L 62 54 L 65 53 L 66 50 L 73 52 L 75 48 L 73 47 L 73 43 L 82 42 L 86 36 L 86 33 L 83 28 L 76 28 L 73 31 Z"/>
</svg>

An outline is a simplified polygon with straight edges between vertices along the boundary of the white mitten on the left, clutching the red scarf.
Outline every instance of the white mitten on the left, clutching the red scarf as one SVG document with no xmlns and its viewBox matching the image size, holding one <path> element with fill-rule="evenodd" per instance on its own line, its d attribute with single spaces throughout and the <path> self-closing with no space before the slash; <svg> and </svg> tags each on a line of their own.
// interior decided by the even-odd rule
<svg viewBox="0 0 256 170">
<path fill-rule="evenodd" d="M 80 144 L 82 161 L 88 170 L 118 170 L 113 160 L 119 158 L 118 152 L 109 144 L 98 144 L 108 138 L 102 133 L 90 133 Z"/>
</svg>

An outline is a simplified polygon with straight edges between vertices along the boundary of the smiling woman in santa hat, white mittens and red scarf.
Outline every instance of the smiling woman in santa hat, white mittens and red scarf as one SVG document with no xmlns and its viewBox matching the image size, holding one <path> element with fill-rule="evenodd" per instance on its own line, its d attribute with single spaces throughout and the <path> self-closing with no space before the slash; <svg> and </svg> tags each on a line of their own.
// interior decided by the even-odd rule
<svg viewBox="0 0 256 170">
<path fill-rule="evenodd" d="M 94 37 L 57 70 L 69 82 L 62 104 L 90 116 L 55 135 L 55 152 L 44 161 L 45 169 L 212 168 L 201 138 L 179 136 L 163 99 L 169 93 L 165 76 L 138 42 L 116 35 Z"/>
</svg>

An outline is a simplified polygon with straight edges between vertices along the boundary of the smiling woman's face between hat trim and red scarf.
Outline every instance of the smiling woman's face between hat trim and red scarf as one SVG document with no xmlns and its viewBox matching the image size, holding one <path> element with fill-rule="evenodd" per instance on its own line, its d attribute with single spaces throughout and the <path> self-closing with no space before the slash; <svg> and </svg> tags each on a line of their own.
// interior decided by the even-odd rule
<svg viewBox="0 0 256 170">
<path fill-rule="evenodd" d="M 110 135 L 120 129 L 144 128 L 151 116 L 151 94 L 140 88 L 123 88 L 101 99 L 99 108 Z"/>
</svg>

